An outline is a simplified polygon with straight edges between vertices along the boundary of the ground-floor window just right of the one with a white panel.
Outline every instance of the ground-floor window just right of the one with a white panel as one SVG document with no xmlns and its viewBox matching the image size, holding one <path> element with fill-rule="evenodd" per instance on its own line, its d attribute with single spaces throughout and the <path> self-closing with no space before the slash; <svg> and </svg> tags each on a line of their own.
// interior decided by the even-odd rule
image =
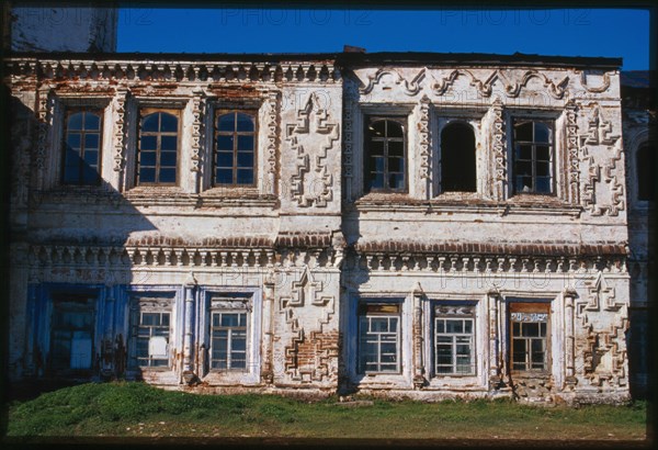
<svg viewBox="0 0 658 450">
<path fill-rule="evenodd" d="M 248 295 L 223 295 L 211 301 L 211 370 L 247 370 Z"/>
</svg>

